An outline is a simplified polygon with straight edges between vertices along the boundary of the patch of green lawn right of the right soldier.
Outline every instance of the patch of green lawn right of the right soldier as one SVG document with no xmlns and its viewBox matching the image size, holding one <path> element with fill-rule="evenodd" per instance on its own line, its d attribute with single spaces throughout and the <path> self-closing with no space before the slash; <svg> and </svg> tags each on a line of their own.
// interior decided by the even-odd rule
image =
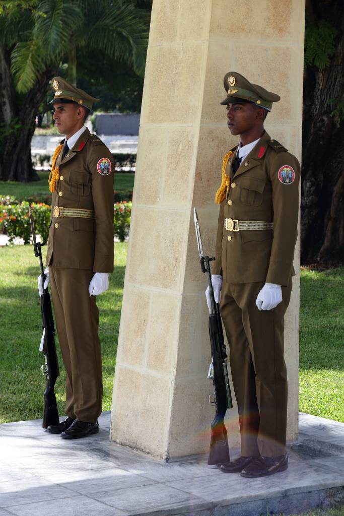
<svg viewBox="0 0 344 516">
<path fill-rule="evenodd" d="M 301 271 L 299 408 L 344 422 L 344 267 Z"/>
</svg>

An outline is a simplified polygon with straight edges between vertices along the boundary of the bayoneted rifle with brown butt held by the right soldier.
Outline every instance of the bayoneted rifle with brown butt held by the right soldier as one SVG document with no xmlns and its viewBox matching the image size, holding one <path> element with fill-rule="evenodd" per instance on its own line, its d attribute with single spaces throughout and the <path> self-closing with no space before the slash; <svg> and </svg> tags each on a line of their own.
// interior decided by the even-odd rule
<svg viewBox="0 0 344 516">
<path fill-rule="evenodd" d="M 224 425 L 224 416 L 227 409 L 233 407 L 230 382 L 227 371 L 227 354 L 223 338 L 220 306 L 215 302 L 214 290 L 212 289 L 210 263 L 215 258 L 203 256 L 200 224 L 194 208 L 194 223 L 197 237 L 197 245 L 200 254 L 201 270 L 208 273 L 209 294 L 211 311 L 209 315 L 209 336 L 211 347 L 211 363 L 209 365 L 208 379 L 214 385 L 214 394 L 210 394 L 209 403 L 215 405 L 215 417 L 211 422 L 211 439 L 209 448 L 208 464 L 214 465 L 230 461 L 230 450 L 228 448 L 227 431 Z"/>
</svg>

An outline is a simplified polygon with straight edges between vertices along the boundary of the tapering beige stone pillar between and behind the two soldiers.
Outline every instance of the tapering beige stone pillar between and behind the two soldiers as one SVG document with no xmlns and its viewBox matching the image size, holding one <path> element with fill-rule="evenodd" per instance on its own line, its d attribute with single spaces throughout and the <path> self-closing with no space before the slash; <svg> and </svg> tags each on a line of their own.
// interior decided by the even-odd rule
<svg viewBox="0 0 344 516">
<path fill-rule="evenodd" d="M 301 159 L 304 0 L 154 0 L 114 378 L 112 441 L 167 459 L 208 451 L 214 408 L 207 286 L 193 225 L 214 255 L 234 70 L 281 96 L 271 137 Z M 116 178 L 115 178 L 116 180 Z M 299 271 L 299 243 L 294 267 Z M 286 315 L 288 439 L 298 431 L 299 274 Z M 233 389 L 232 389 L 233 392 Z M 239 444 L 236 407 L 226 421 Z"/>
</svg>

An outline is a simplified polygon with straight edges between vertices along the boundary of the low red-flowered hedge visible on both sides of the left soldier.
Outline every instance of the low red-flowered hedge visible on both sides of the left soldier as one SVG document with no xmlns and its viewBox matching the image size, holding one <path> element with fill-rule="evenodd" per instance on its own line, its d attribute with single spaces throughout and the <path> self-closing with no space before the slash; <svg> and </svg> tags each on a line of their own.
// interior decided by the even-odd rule
<svg viewBox="0 0 344 516">
<path fill-rule="evenodd" d="M 15 201 L 15 198 L 10 196 L 0 197 L 0 233 L 7 235 L 11 244 L 16 237 L 23 238 L 24 244 L 29 244 L 31 239 L 29 204 L 27 201 L 21 203 Z M 42 202 L 31 203 L 31 206 L 36 233 L 41 236 L 41 241 L 46 243 L 49 234 L 51 207 Z M 132 206 L 131 201 L 114 204 L 113 234 L 121 242 L 129 234 Z"/>
</svg>

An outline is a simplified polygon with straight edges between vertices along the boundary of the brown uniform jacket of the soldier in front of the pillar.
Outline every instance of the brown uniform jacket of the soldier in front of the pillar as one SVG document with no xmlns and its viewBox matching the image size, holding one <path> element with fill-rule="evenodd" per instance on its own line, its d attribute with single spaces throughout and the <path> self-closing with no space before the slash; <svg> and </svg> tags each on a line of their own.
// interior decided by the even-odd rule
<svg viewBox="0 0 344 516">
<path fill-rule="evenodd" d="M 231 186 L 220 205 L 212 273 L 227 283 L 266 281 L 286 286 L 294 275 L 300 164 L 266 132 L 234 174 L 235 150 L 227 164 Z M 225 218 L 273 222 L 274 229 L 227 231 Z"/>
</svg>

